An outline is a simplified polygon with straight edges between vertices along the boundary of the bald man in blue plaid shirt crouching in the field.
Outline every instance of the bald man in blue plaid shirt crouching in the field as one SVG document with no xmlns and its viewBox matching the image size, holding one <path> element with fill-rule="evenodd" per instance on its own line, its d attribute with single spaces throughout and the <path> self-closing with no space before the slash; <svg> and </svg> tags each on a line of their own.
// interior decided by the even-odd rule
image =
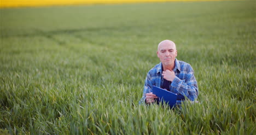
<svg viewBox="0 0 256 135">
<path fill-rule="evenodd" d="M 171 40 L 160 42 L 157 55 L 161 62 L 148 72 L 139 104 L 151 104 L 158 98 L 152 93 L 153 86 L 177 93 L 177 104 L 180 104 L 185 97 L 190 101 L 195 101 L 198 88 L 194 71 L 190 64 L 176 59 L 175 43 Z"/>
</svg>

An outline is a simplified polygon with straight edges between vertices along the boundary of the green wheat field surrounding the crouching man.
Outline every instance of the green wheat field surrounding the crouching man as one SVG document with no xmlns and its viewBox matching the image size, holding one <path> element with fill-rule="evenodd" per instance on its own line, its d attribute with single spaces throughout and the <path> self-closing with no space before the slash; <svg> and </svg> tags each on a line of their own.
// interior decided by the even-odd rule
<svg viewBox="0 0 256 135">
<path fill-rule="evenodd" d="M 256 2 L 0 9 L 0 134 L 254 134 Z M 139 105 L 158 43 L 199 103 Z"/>
</svg>

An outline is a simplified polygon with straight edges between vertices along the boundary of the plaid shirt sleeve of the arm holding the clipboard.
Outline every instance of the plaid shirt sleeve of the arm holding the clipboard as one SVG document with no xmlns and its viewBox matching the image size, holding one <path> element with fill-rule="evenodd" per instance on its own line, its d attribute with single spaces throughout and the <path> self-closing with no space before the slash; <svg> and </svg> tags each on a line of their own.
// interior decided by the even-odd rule
<svg viewBox="0 0 256 135">
<path fill-rule="evenodd" d="M 145 80 L 145 84 L 144 84 L 143 96 L 139 101 L 139 104 L 146 103 L 146 93 L 152 92 L 152 87 L 153 87 L 152 80 L 151 80 L 150 74 L 148 73 L 147 78 Z"/>
</svg>

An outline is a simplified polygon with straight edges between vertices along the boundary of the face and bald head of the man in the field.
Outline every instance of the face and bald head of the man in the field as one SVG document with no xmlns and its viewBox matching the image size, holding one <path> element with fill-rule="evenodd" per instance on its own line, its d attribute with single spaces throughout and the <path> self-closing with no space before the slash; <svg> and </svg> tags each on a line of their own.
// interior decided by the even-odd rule
<svg viewBox="0 0 256 135">
<path fill-rule="evenodd" d="M 170 42 L 161 43 L 158 48 L 158 57 L 164 66 L 174 64 L 177 56 L 176 46 Z"/>
</svg>

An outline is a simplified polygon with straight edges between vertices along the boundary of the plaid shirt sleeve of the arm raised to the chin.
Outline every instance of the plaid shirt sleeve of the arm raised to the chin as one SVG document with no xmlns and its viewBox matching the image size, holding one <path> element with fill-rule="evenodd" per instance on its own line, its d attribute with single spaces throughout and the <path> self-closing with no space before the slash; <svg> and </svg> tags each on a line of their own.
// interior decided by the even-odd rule
<svg viewBox="0 0 256 135">
<path fill-rule="evenodd" d="M 188 64 L 188 71 L 185 74 L 185 79 L 181 80 L 175 77 L 171 86 L 174 87 L 181 95 L 188 97 L 190 101 L 195 101 L 198 96 L 197 81 L 194 76 L 192 67 Z"/>
</svg>

